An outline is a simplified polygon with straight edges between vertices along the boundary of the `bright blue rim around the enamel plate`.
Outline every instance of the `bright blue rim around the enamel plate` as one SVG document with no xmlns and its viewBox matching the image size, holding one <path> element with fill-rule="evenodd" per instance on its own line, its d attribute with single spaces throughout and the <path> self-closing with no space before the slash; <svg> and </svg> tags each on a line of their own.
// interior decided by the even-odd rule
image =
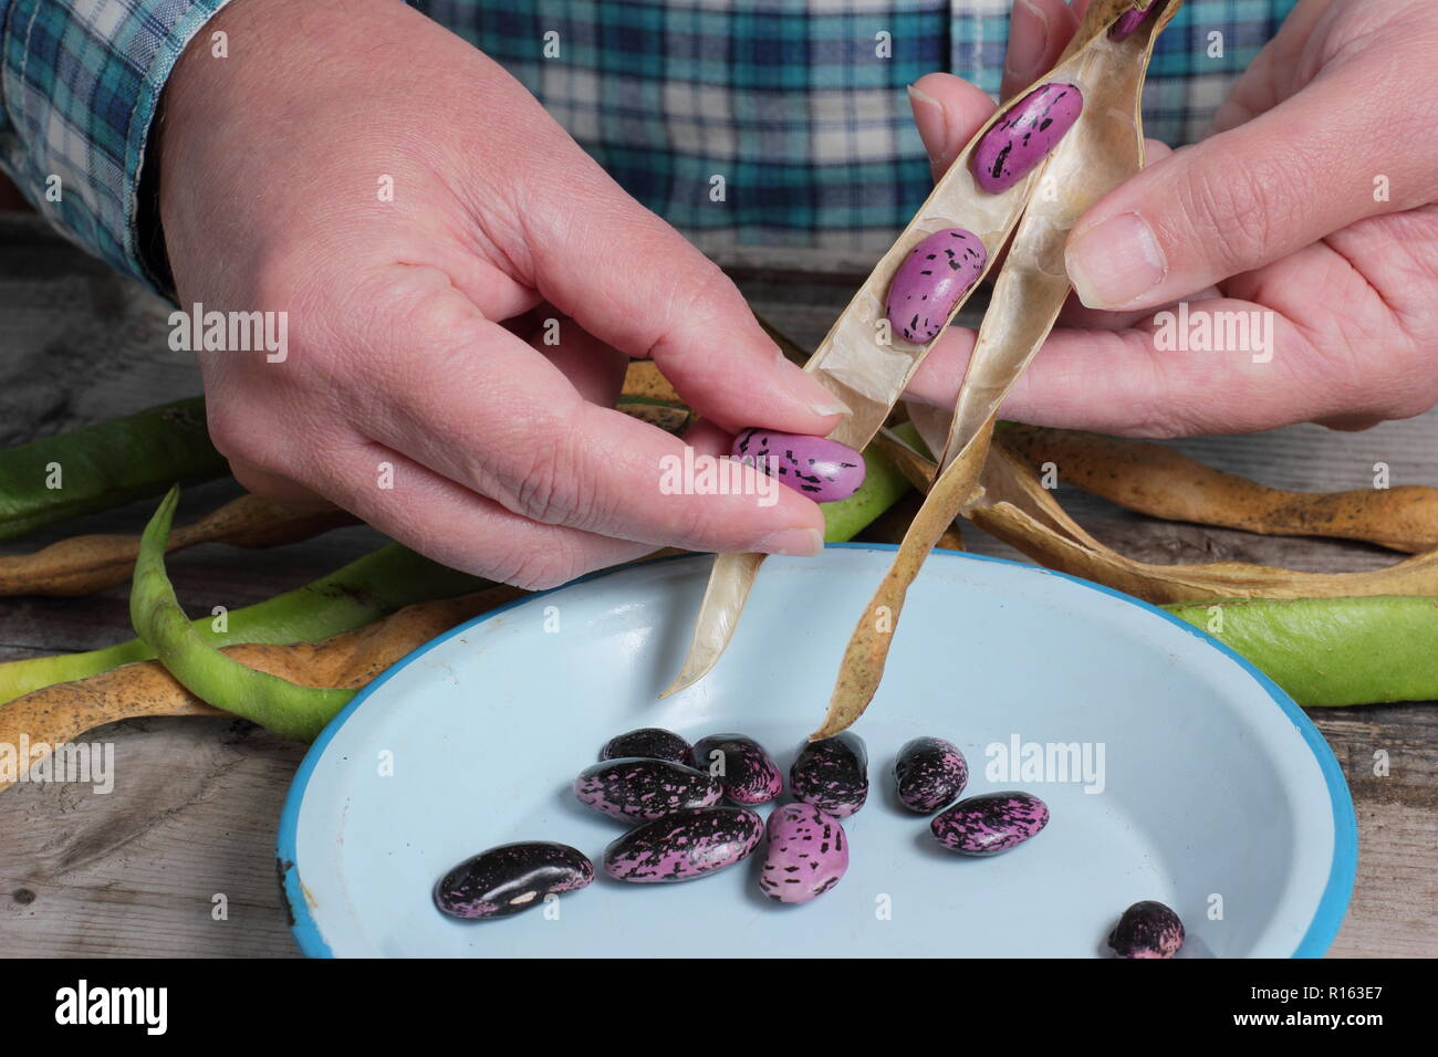
<svg viewBox="0 0 1438 1057">
<path fill-rule="evenodd" d="M 824 549 L 844 549 L 844 551 L 897 551 L 894 544 L 825 544 Z M 1027 569 L 1030 572 L 1037 572 L 1048 577 L 1058 577 L 1061 580 L 1070 580 L 1076 584 L 1087 587 L 1093 591 L 1102 591 L 1103 594 L 1110 594 L 1114 598 L 1122 598 L 1130 605 L 1137 605 L 1148 610 L 1149 613 L 1156 613 L 1163 617 L 1163 620 L 1171 624 L 1176 624 L 1185 631 L 1202 639 L 1209 646 L 1212 646 L 1219 653 L 1238 662 L 1242 669 L 1254 677 L 1268 696 L 1273 697 L 1274 703 L 1283 709 L 1284 715 L 1293 722 L 1303 735 L 1304 743 L 1313 756 L 1319 762 L 1319 771 L 1323 772 L 1323 784 L 1329 790 L 1329 801 L 1333 807 L 1333 863 L 1329 867 L 1329 880 L 1323 889 L 1323 897 L 1319 900 L 1317 909 L 1313 912 L 1313 920 L 1309 923 L 1309 930 L 1304 933 L 1303 939 L 1299 942 L 1297 949 L 1293 952 L 1293 958 L 1322 958 L 1323 953 L 1333 943 L 1333 939 L 1339 935 L 1339 929 L 1343 925 L 1343 918 L 1347 915 L 1349 899 L 1353 896 L 1353 882 L 1357 876 L 1357 817 L 1353 814 L 1353 797 L 1347 788 L 1347 779 L 1343 777 L 1343 769 L 1339 767 L 1337 758 L 1333 755 L 1333 749 L 1329 748 L 1327 741 L 1319 732 L 1319 728 L 1313 725 L 1313 720 L 1299 708 L 1299 705 L 1290 697 L 1276 682 L 1268 676 L 1254 667 L 1245 657 L 1235 653 L 1232 649 L 1225 646 L 1218 639 L 1202 628 L 1189 624 L 1186 620 L 1175 617 L 1166 610 L 1160 610 L 1158 605 L 1143 601 L 1142 598 L 1135 598 L 1132 594 L 1125 594 L 1123 591 L 1116 591 L 1112 587 L 1104 587 L 1103 584 L 1096 584 L 1091 580 L 1084 580 L 1083 577 L 1074 577 L 1067 572 L 1055 572 L 1054 569 L 1045 569 L 1040 565 L 1030 565 L 1027 562 L 1009 561 L 1008 558 L 991 558 L 982 554 L 969 554 L 966 551 L 948 551 L 943 548 L 935 548 L 933 554 L 951 555 L 956 558 L 965 558 L 968 561 L 989 561 L 998 565 L 1012 565 L 1020 569 Z M 640 562 L 643 565 L 656 565 L 659 562 L 677 561 L 682 558 L 693 558 L 696 555 L 679 554 L 669 555 L 666 558 L 656 558 L 650 562 Z M 626 565 L 624 568 L 634 568 L 634 565 Z M 301 952 L 306 958 L 334 958 L 334 952 L 329 949 L 329 943 L 325 941 L 324 935 L 319 932 L 319 926 L 309 913 L 309 903 L 305 899 L 303 884 L 299 877 L 298 867 L 298 837 L 299 837 L 299 810 L 305 801 L 305 790 L 309 785 L 309 777 L 315 771 L 315 765 L 319 758 L 325 755 L 325 746 L 329 745 L 329 739 L 335 736 L 335 732 L 344 726 L 344 723 L 355 713 L 361 705 L 388 682 L 390 676 L 407 666 L 410 662 L 423 657 L 426 653 L 433 650 L 440 643 L 446 643 L 454 636 L 464 634 L 477 624 L 485 623 L 502 613 L 523 605 L 533 601 L 535 598 L 542 598 L 554 591 L 562 591 L 575 584 L 584 584 L 591 580 L 598 580 L 600 577 L 610 575 L 611 572 L 618 572 L 620 569 L 598 569 L 585 577 L 578 577 L 571 580 L 568 584 L 551 588 L 548 591 L 535 591 L 533 594 L 526 594 L 522 598 L 516 598 L 512 603 L 506 603 L 499 608 L 482 613 L 473 620 L 467 620 L 459 627 L 450 628 L 441 636 L 431 639 L 410 653 L 407 653 L 400 660 L 394 662 L 388 669 L 381 672 L 368 686 L 360 690 L 354 699 L 345 705 L 341 712 L 329 720 L 319 736 L 309 746 L 305 754 L 305 759 L 301 761 L 299 769 L 295 772 L 295 778 L 290 782 L 289 792 L 285 795 L 285 807 L 279 817 L 279 836 L 275 838 L 276 848 L 276 870 L 279 874 L 280 899 L 285 903 L 285 909 L 289 913 L 290 926 L 289 930 L 295 936 L 295 942 L 299 945 Z"/>
</svg>

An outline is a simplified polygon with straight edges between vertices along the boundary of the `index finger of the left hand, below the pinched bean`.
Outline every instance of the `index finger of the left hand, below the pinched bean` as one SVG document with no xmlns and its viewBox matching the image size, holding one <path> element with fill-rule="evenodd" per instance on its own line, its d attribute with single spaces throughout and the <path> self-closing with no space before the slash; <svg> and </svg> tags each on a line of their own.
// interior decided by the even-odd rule
<svg viewBox="0 0 1438 1057">
<path fill-rule="evenodd" d="M 372 388 L 355 418 L 375 441 L 548 525 L 703 551 L 814 554 L 820 509 L 749 466 L 725 493 L 663 430 L 587 403 L 544 357 L 436 275 L 381 280 L 398 298 L 351 335 Z M 407 301 L 406 301 L 407 299 Z M 718 473 L 719 470 L 716 470 Z"/>
</svg>

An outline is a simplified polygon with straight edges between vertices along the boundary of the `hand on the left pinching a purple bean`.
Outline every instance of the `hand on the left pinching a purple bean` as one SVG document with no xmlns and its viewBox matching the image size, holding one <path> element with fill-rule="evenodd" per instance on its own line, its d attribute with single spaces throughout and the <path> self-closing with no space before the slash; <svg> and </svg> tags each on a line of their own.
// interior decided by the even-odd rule
<svg viewBox="0 0 1438 1057">
<path fill-rule="evenodd" d="M 197 354 L 211 436 L 252 490 L 318 493 L 531 588 L 661 545 L 823 545 L 787 488 L 768 506 L 660 492 L 683 441 L 613 410 L 626 354 L 719 427 L 696 433 L 710 454 L 722 430 L 828 433 L 843 406 L 459 37 L 395 0 L 236 0 L 181 58 L 161 128 L 181 305 L 288 314 L 282 362 Z"/>
</svg>

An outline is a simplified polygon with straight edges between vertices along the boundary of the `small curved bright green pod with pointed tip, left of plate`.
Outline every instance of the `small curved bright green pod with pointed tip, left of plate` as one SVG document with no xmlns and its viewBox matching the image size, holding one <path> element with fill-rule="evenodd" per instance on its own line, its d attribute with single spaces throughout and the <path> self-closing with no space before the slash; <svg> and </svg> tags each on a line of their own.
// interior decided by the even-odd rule
<svg viewBox="0 0 1438 1057">
<path fill-rule="evenodd" d="M 259 723 L 280 738 L 313 741 L 354 690 L 299 686 L 240 664 L 197 634 L 165 575 L 165 538 L 180 502 L 174 486 L 139 539 L 129 621 L 160 663 L 209 705 Z"/>
</svg>

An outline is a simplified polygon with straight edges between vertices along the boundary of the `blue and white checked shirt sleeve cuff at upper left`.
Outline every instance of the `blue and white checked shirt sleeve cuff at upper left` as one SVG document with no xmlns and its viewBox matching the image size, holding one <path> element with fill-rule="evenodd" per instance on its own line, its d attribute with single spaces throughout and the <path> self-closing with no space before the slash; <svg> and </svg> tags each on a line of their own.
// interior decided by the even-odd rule
<svg viewBox="0 0 1438 1057">
<path fill-rule="evenodd" d="M 58 229 L 152 289 L 141 198 L 170 70 L 229 0 L 0 0 L 0 164 Z"/>
</svg>

